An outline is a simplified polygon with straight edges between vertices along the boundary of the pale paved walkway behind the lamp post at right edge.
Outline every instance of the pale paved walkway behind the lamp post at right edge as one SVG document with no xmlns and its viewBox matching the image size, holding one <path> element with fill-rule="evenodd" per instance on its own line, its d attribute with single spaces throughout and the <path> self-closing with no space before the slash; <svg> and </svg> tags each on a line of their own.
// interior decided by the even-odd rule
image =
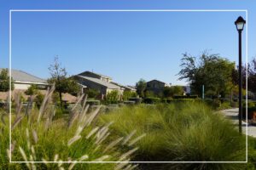
<svg viewBox="0 0 256 170">
<path fill-rule="evenodd" d="M 221 111 L 224 116 L 230 118 L 238 127 L 238 108 Z M 242 133 L 246 133 L 247 122 L 241 122 Z M 248 136 L 256 138 L 256 127 L 248 125 Z"/>
</svg>

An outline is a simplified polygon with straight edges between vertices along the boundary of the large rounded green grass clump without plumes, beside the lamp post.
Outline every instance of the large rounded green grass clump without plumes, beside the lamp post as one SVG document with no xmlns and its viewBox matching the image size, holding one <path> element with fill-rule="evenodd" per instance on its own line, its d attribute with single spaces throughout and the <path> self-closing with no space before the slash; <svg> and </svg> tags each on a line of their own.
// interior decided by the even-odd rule
<svg viewBox="0 0 256 170">
<path fill-rule="evenodd" d="M 144 135 L 133 161 L 245 161 L 245 136 L 199 102 L 126 106 L 102 116 L 113 136 Z M 236 164 L 143 164 L 145 169 L 239 169 Z"/>
</svg>

